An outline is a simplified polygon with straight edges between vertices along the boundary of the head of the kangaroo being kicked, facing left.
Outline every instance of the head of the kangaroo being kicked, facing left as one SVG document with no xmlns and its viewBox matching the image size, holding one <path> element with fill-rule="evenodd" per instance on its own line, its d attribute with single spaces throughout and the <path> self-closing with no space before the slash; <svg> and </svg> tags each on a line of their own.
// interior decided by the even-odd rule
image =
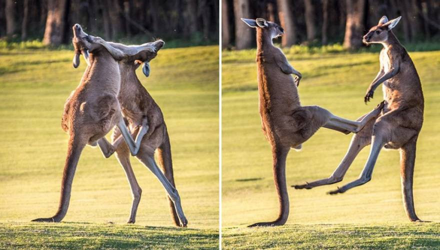
<svg viewBox="0 0 440 250">
<path fill-rule="evenodd" d="M 368 30 L 363 36 L 363 42 L 366 44 L 369 43 L 382 43 L 388 40 L 388 34 L 391 32 L 391 29 L 397 25 L 401 16 L 389 20 L 386 16 L 382 16 L 380 18 L 379 23 Z"/>
</svg>

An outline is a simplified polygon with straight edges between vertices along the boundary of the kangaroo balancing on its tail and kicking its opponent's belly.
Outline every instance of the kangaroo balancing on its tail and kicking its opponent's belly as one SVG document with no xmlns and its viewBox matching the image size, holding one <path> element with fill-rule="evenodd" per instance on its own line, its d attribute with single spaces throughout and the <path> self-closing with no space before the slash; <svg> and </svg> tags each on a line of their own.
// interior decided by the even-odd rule
<svg viewBox="0 0 440 250">
<path fill-rule="evenodd" d="M 250 226 L 283 225 L 289 212 L 285 162 L 290 148 L 300 148 L 301 143 L 320 127 L 356 133 L 369 119 L 380 113 L 382 105 L 379 104 L 360 121 L 335 116 L 319 106 L 301 106 L 297 86 L 302 75 L 272 43 L 273 38 L 284 33 L 282 27 L 263 18 L 241 20 L 256 28 L 259 113 L 263 133 L 272 147 L 273 176 L 279 199 L 279 214 L 274 221 L 258 222 Z"/>
</svg>

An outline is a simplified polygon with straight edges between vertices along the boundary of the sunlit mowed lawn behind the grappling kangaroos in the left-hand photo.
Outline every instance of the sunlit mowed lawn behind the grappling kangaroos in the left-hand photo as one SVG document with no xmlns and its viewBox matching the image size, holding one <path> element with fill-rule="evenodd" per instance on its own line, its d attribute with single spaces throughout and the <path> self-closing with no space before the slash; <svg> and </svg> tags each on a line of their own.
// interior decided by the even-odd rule
<svg viewBox="0 0 440 250">
<path fill-rule="evenodd" d="M 164 188 L 134 157 L 142 197 L 135 225 L 124 225 L 131 192 L 122 167 L 89 146 L 63 222 L 29 222 L 58 207 L 68 139 L 61 114 L 86 66 L 81 57 L 74 69 L 72 56 L 71 50 L 0 50 L 0 248 L 67 247 L 58 237 L 74 248 L 218 247 L 218 46 L 165 47 L 151 61 L 150 77 L 137 70 L 164 114 L 188 228 L 173 227 Z"/>
</svg>

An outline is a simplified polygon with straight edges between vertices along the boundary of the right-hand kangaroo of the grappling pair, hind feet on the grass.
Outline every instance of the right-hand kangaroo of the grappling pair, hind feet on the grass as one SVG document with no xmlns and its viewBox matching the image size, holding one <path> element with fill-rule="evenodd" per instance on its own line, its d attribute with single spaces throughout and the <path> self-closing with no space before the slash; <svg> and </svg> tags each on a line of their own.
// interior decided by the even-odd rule
<svg viewBox="0 0 440 250">
<path fill-rule="evenodd" d="M 124 45 L 120 43 L 108 42 L 117 50 L 125 54 L 132 53 L 135 45 Z M 159 179 L 168 194 L 168 201 L 172 219 L 177 226 L 186 226 L 187 220 L 183 214 L 180 203 L 180 196 L 175 188 L 174 177 L 172 171 L 171 147 L 169 144 L 168 132 L 160 107 L 153 100 L 148 91 L 142 86 L 136 76 L 137 67 L 143 62 L 142 72 L 149 75 L 149 61 L 152 60 L 157 51 L 163 46 L 162 40 L 144 43 L 139 46 L 153 46 L 155 53 L 149 51 L 141 51 L 134 55 L 127 56 L 118 62 L 121 75 L 121 84 L 118 100 L 122 108 L 122 113 L 126 119 L 126 124 L 131 130 L 148 130 L 141 140 L 140 150 L 136 157 Z M 111 50 L 110 50 L 111 51 Z M 116 157 L 122 165 L 128 182 L 130 184 L 131 193 L 133 195 L 133 203 L 131 206 L 130 218 L 128 223 L 134 223 L 136 217 L 137 206 L 140 201 L 142 190 L 137 183 L 131 168 L 129 151 L 126 145 L 119 144 L 120 129 L 114 128 L 112 134 L 113 145 L 116 146 Z M 158 159 L 162 171 L 157 167 L 154 161 L 154 150 L 158 151 Z M 107 151 L 111 153 L 111 148 Z M 107 156 L 107 155 L 106 155 Z"/>
</svg>

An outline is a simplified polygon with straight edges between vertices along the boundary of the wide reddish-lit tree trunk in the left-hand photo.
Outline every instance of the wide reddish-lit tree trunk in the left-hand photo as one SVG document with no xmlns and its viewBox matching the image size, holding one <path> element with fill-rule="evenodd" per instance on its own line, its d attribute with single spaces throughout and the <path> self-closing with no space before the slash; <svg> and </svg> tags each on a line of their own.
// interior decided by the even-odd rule
<svg viewBox="0 0 440 250">
<path fill-rule="evenodd" d="M 66 0 L 48 0 L 43 43 L 59 45 L 64 36 Z"/>
</svg>

